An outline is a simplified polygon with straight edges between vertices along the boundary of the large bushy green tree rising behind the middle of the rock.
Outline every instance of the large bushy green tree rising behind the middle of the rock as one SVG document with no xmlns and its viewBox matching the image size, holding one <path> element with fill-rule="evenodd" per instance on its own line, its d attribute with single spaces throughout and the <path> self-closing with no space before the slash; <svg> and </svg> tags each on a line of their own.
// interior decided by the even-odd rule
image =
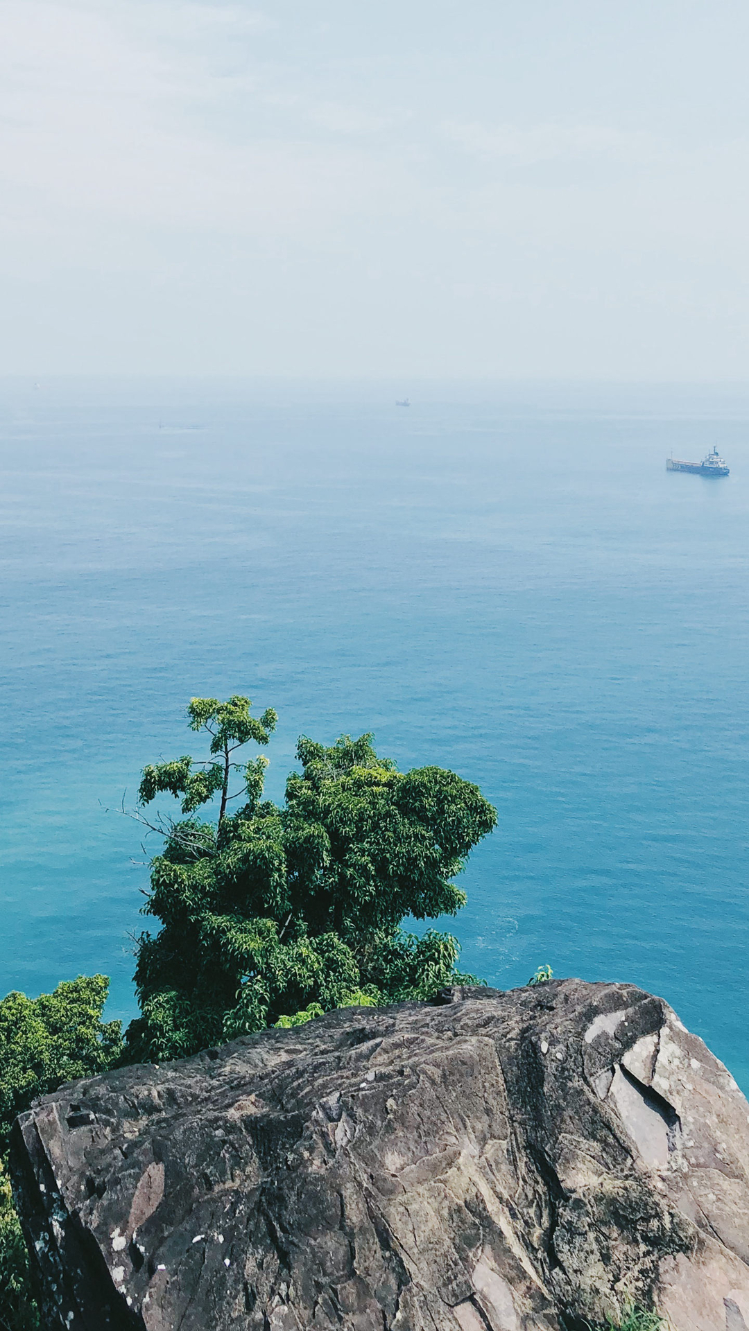
<svg viewBox="0 0 749 1331">
<path fill-rule="evenodd" d="M 478 788 L 437 767 L 398 772 L 371 735 L 332 748 L 303 737 L 301 772 L 279 807 L 263 799 L 267 760 L 232 757 L 251 740 L 265 745 L 276 725 L 272 709 L 255 720 L 251 707 L 193 699 L 188 721 L 211 736 L 211 756 L 144 769 L 141 808 L 169 793 L 185 817 L 148 823 L 165 840 L 144 906 L 161 929 L 137 940 L 143 1016 L 128 1029 L 131 1058 L 175 1058 L 319 1010 L 473 980 L 456 970 L 450 934 L 400 926 L 465 904 L 452 880 L 496 823 Z M 196 817 L 212 800 L 215 821 Z"/>
</svg>

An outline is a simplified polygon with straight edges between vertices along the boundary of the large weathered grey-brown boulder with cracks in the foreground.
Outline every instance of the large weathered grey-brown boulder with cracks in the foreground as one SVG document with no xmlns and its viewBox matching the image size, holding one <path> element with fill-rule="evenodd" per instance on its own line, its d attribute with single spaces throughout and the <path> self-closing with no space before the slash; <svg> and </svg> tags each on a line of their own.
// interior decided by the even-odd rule
<svg viewBox="0 0 749 1331">
<path fill-rule="evenodd" d="M 749 1105 L 578 980 L 353 1008 L 63 1087 L 13 1130 L 45 1326 L 749 1328 Z"/>
</svg>

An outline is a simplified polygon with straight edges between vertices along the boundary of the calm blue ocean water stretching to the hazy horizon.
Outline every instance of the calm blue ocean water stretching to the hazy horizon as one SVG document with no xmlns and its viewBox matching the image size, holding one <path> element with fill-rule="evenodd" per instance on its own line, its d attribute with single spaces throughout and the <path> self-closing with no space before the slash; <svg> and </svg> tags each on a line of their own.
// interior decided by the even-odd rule
<svg viewBox="0 0 749 1331">
<path fill-rule="evenodd" d="M 489 982 L 629 980 L 749 1090 L 749 389 L 0 386 L 0 990 L 133 1014 L 144 763 L 192 695 L 477 781 Z M 728 480 L 666 474 L 717 443 Z"/>
</svg>

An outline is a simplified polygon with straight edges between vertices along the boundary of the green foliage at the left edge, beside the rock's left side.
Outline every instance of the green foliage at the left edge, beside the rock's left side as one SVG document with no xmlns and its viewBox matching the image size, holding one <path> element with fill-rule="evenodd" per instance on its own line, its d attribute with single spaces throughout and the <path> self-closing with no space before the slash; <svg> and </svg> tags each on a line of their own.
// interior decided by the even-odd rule
<svg viewBox="0 0 749 1331">
<path fill-rule="evenodd" d="M 101 1021 L 108 988 L 105 976 L 79 976 L 51 994 L 9 993 L 0 1002 L 0 1331 L 41 1328 L 5 1171 L 11 1126 L 37 1095 L 120 1057 L 120 1022 Z"/>
</svg>

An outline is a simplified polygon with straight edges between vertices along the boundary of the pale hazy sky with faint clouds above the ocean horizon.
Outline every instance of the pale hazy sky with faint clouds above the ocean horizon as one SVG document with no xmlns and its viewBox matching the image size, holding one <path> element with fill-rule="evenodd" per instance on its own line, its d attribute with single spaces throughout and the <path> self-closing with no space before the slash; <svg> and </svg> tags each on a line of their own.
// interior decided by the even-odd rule
<svg viewBox="0 0 749 1331">
<path fill-rule="evenodd" d="M 746 0 L 4 0 L 5 373 L 749 377 Z"/>
</svg>

